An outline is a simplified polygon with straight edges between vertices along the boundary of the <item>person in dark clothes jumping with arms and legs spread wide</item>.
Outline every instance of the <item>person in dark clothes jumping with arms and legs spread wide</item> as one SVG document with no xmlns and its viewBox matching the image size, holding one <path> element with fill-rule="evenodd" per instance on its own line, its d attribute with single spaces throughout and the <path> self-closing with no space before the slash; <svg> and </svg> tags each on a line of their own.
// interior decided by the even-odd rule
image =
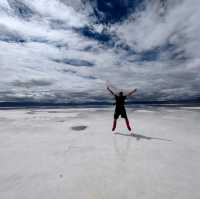
<svg viewBox="0 0 200 199">
<path fill-rule="evenodd" d="M 130 93 L 128 93 L 127 95 L 123 95 L 123 92 L 119 92 L 118 95 L 116 95 L 110 88 L 109 86 L 107 86 L 108 91 L 115 97 L 115 113 L 114 113 L 114 120 L 113 120 L 113 127 L 112 127 L 112 131 L 115 130 L 116 126 L 117 126 L 117 119 L 119 118 L 119 116 L 121 115 L 121 118 L 124 118 L 126 121 L 126 126 L 128 128 L 129 131 L 131 131 L 131 127 L 129 124 L 129 120 L 126 114 L 126 109 L 125 109 L 125 100 L 128 96 L 133 95 L 137 89 L 134 89 L 133 91 L 131 91 Z"/>
</svg>

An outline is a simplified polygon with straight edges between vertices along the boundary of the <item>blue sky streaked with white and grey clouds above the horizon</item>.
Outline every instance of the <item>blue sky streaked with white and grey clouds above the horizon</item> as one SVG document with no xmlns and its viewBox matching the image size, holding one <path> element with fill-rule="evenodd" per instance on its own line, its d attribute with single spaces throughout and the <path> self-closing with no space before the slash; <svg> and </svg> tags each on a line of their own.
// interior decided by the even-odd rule
<svg viewBox="0 0 200 199">
<path fill-rule="evenodd" d="M 200 96 L 199 0 L 0 0 L 0 101 Z"/>
</svg>

